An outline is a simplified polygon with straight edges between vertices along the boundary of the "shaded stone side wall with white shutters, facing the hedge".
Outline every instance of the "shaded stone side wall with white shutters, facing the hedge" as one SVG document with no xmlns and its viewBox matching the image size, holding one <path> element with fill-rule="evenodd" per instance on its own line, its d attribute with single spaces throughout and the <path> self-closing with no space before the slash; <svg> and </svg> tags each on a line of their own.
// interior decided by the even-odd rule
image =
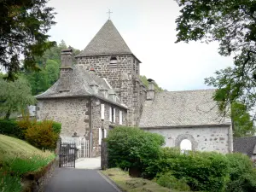
<svg viewBox="0 0 256 192">
<path fill-rule="evenodd" d="M 101 119 L 101 104 L 104 104 L 104 119 Z M 93 157 L 98 157 L 101 155 L 101 145 L 99 144 L 99 128 L 108 131 L 111 127 L 119 125 L 119 110 L 122 110 L 123 123 L 122 125 L 127 125 L 126 123 L 126 110 L 119 108 L 117 106 L 111 105 L 107 102 L 101 101 L 101 104 L 96 105 L 96 99 L 92 102 L 92 146 L 93 146 Z M 115 108 L 115 123 L 109 120 L 109 108 Z"/>
</svg>

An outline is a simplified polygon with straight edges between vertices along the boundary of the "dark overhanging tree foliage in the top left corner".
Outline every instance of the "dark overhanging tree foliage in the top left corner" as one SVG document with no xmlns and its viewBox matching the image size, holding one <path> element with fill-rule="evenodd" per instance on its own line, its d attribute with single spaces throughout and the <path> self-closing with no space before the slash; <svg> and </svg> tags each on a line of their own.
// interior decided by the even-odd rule
<svg viewBox="0 0 256 192">
<path fill-rule="evenodd" d="M 38 70 L 35 57 L 55 45 L 48 41 L 55 13 L 46 7 L 48 0 L 0 1 L 0 63 L 9 80 L 20 71 L 20 55 L 24 68 Z"/>
</svg>

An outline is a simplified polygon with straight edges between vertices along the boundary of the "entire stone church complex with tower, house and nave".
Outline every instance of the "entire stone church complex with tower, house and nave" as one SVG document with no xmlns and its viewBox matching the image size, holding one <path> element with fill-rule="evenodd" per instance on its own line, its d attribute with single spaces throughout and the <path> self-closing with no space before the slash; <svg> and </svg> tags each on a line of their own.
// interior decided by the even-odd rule
<svg viewBox="0 0 256 192">
<path fill-rule="evenodd" d="M 61 51 L 60 79 L 36 96 L 37 117 L 61 122 L 61 138 L 84 137 L 90 157 L 100 155 L 101 141 L 115 125 L 138 126 L 166 138 L 166 146 L 229 153 L 230 119 L 218 113 L 214 90 L 154 90 L 140 80 L 141 61 L 131 52 L 113 22 L 107 20 L 72 61 Z"/>
</svg>

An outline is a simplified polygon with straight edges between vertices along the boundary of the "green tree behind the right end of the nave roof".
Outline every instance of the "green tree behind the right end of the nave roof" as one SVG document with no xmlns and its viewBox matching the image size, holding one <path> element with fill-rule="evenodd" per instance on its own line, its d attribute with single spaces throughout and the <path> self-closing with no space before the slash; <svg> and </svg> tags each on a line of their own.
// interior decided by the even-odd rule
<svg viewBox="0 0 256 192">
<path fill-rule="evenodd" d="M 231 105 L 231 118 L 233 121 L 234 137 L 249 137 L 255 133 L 253 121 L 247 112 L 247 107 L 240 102 Z"/>
</svg>

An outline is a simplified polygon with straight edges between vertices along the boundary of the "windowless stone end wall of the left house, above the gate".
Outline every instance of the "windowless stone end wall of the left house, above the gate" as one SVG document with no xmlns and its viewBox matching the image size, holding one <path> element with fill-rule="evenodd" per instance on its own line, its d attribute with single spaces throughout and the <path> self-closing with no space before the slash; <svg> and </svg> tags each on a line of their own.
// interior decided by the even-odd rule
<svg viewBox="0 0 256 192">
<path fill-rule="evenodd" d="M 89 112 L 88 98 L 57 98 L 39 100 L 38 120 L 53 119 L 61 123 L 61 137 L 88 137 Z"/>
</svg>

